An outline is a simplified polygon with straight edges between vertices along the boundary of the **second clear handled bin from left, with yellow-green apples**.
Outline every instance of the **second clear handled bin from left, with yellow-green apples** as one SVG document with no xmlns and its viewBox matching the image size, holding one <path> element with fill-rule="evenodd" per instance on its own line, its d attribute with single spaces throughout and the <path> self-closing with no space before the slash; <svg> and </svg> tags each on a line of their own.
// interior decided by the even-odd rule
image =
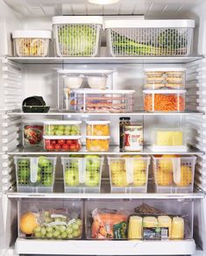
<svg viewBox="0 0 206 256">
<path fill-rule="evenodd" d="M 103 157 L 61 158 L 65 193 L 100 193 Z"/>
</svg>

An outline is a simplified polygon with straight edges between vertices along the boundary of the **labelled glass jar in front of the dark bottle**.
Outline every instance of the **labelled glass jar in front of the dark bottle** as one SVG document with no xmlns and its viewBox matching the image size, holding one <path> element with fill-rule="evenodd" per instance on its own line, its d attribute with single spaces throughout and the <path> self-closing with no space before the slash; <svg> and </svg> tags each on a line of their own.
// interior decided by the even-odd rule
<svg viewBox="0 0 206 256">
<path fill-rule="evenodd" d="M 143 150 L 143 126 L 142 124 L 126 124 L 124 126 L 124 150 Z"/>
</svg>

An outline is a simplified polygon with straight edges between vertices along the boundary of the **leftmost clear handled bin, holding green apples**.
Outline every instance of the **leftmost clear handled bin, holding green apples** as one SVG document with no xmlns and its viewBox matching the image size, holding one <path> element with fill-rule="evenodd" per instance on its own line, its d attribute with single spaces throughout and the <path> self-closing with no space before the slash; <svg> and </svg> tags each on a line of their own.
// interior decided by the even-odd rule
<svg viewBox="0 0 206 256">
<path fill-rule="evenodd" d="M 55 157 L 14 157 L 18 192 L 53 193 Z"/>
</svg>

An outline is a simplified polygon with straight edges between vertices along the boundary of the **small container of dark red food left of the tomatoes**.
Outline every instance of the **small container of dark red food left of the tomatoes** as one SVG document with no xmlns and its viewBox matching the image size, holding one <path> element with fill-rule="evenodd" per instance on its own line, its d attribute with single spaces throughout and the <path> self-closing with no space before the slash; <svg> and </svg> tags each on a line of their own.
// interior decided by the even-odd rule
<svg viewBox="0 0 206 256">
<path fill-rule="evenodd" d="M 23 124 L 23 146 L 43 146 L 44 125 L 38 122 Z"/>
</svg>

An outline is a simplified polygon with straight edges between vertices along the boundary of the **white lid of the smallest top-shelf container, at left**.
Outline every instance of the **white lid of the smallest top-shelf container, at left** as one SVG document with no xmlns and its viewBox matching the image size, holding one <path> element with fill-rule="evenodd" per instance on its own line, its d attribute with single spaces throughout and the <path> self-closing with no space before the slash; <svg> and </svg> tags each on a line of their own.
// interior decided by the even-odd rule
<svg viewBox="0 0 206 256">
<path fill-rule="evenodd" d="M 16 30 L 12 33 L 13 39 L 51 39 L 52 32 L 48 30 Z"/>
</svg>

